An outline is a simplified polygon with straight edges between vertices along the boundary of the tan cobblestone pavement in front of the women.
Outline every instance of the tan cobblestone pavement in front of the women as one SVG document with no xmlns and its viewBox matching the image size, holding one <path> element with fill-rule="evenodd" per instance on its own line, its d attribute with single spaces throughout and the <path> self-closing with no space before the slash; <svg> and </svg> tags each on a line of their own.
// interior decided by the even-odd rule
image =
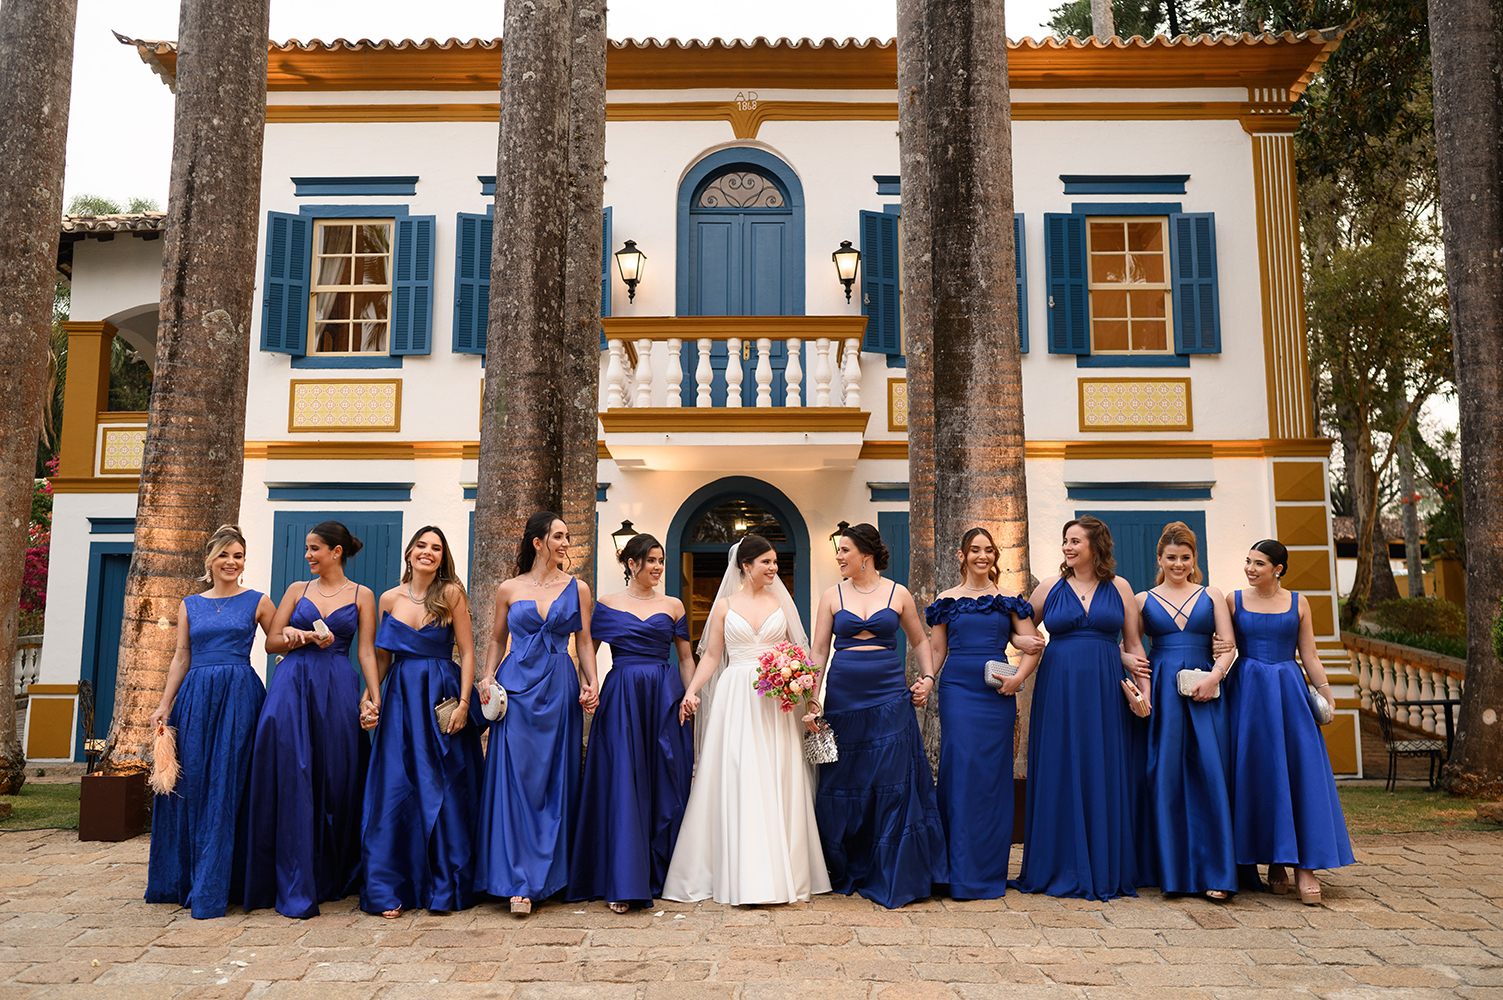
<svg viewBox="0 0 1503 1000">
<path fill-rule="evenodd" d="M 141 901 L 147 839 L 0 835 L 0 1000 L 1064 1000 L 1503 997 L 1503 835 L 1363 838 L 1326 904 L 1009 893 L 887 911 L 549 904 L 517 919 L 274 911 L 194 920 Z M 1018 851 L 1013 853 L 1015 865 Z"/>
</svg>

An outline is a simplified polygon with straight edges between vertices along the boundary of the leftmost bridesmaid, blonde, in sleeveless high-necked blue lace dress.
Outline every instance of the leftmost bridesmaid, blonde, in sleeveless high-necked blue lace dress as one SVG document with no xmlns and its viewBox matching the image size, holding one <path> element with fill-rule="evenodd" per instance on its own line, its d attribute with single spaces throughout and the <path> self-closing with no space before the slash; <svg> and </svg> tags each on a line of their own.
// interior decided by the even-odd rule
<svg viewBox="0 0 1503 1000">
<path fill-rule="evenodd" d="M 194 917 L 222 917 L 245 892 L 245 786 L 256 717 L 266 686 L 251 668 L 256 627 L 271 633 L 277 608 L 240 586 L 245 535 L 221 525 L 203 556 L 209 583 L 177 611 L 177 651 L 167 668 L 152 731 L 177 729 L 177 788 L 152 806 L 152 854 L 146 901 L 189 907 Z"/>
</svg>

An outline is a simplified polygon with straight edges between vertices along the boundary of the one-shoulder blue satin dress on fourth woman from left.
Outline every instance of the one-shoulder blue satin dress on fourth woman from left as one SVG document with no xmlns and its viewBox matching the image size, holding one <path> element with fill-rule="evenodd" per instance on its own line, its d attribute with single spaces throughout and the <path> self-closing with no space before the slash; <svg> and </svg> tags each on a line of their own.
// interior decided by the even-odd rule
<svg viewBox="0 0 1503 1000">
<path fill-rule="evenodd" d="M 568 639 L 580 630 L 579 582 L 570 580 L 538 617 L 517 600 L 507 611 L 511 653 L 496 671 L 507 714 L 490 723 L 485 777 L 475 824 L 475 889 L 546 899 L 568 881 L 579 821 L 585 714 Z M 472 705 L 473 708 L 473 705 Z"/>
</svg>

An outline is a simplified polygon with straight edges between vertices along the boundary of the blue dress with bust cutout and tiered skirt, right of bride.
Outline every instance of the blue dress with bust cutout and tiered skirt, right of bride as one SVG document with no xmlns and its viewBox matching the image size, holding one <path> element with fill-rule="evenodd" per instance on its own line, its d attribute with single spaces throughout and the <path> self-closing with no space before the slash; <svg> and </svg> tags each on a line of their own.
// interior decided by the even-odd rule
<svg viewBox="0 0 1503 1000">
<path fill-rule="evenodd" d="M 933 774 L 897 653 L 896 592 L 893 583 L 888 606 L 870 618 L 857 618 L 840 597 L 824 705 L 840 759 L 819 765 L 815 795 L 831 889 L 890 910 L 948 881 Z M 857 639 L 863 632 L 872 638 Z M 881 648 L 852 648 L 863 645 Z"/>
</svg>

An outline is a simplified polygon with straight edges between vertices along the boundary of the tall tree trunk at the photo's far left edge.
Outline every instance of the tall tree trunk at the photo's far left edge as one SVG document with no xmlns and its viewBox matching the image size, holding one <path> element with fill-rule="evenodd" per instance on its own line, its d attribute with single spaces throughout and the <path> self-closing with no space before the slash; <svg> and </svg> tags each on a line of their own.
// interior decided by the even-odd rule
<svg viewBox="0 0 1503 1000">
<path fill-rule="evenodd" d="M 26 783 L 15 644 L 42 430 L 77 0 L 0 5 L 0 795 Z M 54 623 L 60 624 L 60 623 Z"/>
</svg>

